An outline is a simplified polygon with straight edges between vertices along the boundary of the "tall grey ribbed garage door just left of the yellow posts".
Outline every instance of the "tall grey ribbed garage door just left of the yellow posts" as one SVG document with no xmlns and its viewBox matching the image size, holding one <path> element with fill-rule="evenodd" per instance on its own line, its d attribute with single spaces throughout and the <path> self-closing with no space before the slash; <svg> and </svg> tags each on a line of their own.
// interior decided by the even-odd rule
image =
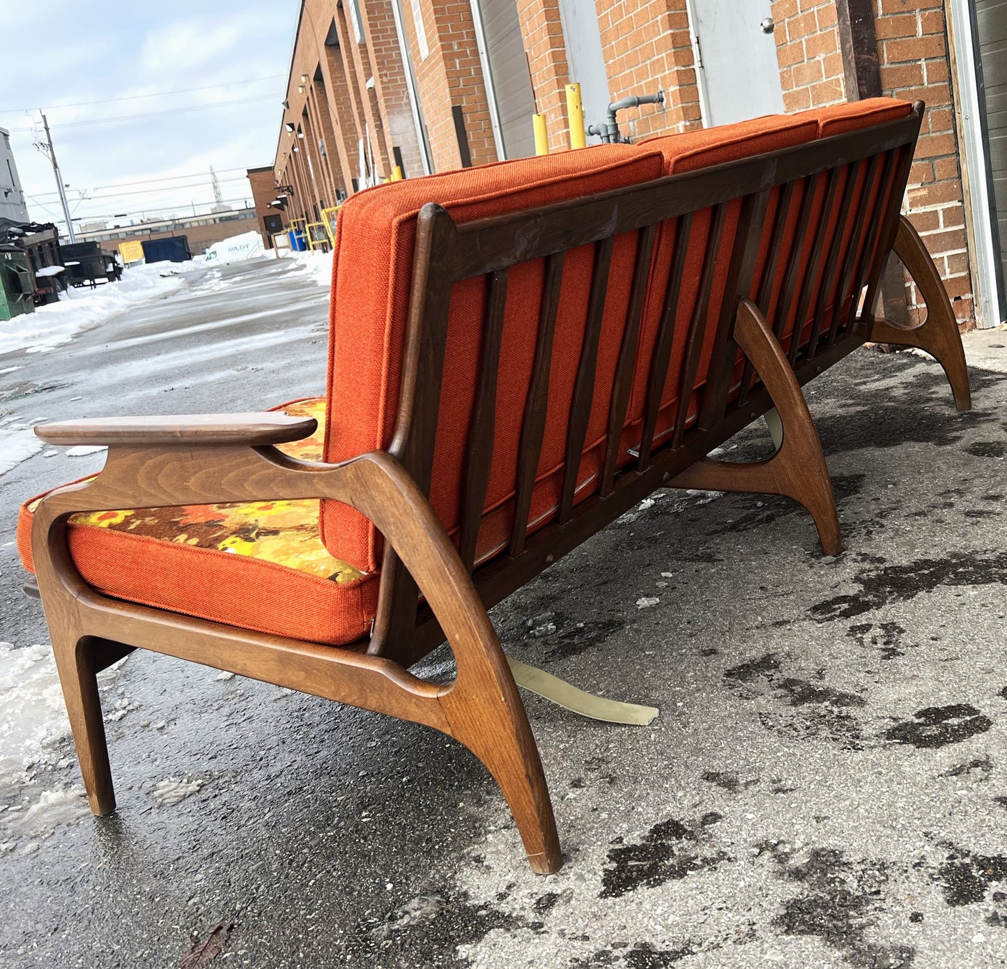
<svg viewBox="0 0 1007 969">
<path fill-rule="evenodd" d="M 495 101 L 497 133 L 508 158 L 535 154 L 535 95 L 521 39 L 517 0 L 473 2 L 482 21 L 483 70 L 488 68 L 490 98 Z"/>
</svg>

